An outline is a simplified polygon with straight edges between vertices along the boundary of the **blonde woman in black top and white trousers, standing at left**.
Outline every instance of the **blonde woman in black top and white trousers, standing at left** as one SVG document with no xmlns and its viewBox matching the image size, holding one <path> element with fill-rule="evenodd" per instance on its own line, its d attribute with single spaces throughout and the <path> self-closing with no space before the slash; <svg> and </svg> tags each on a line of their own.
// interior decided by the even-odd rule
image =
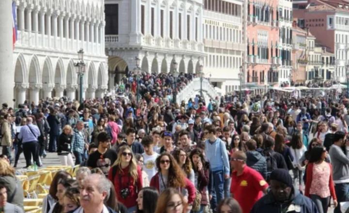
<svg viewBox="0 0 349 213">
<path fill-rule="evenodd" d="M 71 142 L 73 138 L 73 129 L 70 125 L 65 125 L 62 134 L 57 140 L 57 154 L 63 166 L 74 166 L 73 156 L 71 154 Z"/>
</svg>

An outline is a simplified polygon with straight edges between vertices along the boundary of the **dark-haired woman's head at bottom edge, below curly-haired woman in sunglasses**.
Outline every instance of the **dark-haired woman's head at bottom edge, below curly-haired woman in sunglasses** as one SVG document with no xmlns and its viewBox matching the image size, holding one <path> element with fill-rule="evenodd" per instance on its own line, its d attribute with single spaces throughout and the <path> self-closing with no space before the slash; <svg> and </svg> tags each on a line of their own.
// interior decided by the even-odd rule
<svg viewBox="0 0 349 213">
<path fill-rule="evenodd" d="M 136 213 L 154 213 L 159 198 L 159 192 L 154 187 L 144 187 L 137 198 Z"/>
</svg>

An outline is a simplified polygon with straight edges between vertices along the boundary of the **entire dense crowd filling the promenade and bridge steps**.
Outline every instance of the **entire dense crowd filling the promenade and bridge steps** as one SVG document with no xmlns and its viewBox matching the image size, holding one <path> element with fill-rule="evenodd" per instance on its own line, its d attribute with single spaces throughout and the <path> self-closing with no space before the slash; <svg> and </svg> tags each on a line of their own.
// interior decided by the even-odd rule
<svg viewBox="0 0 349 213">
<path fill-rule="evenodd" d="M 54 152 L 80 167 L 75 179 L 55 174 L 42 213 L 327 213 L 330 203 L 341 212 L 348 99 L 246 93 L 173 103 L 193 77 L 131 75 L 116 95 L 83 103 L 4 103 L 0 208 L 22 211 L 21 153 L 31 168 Z"/>
</svg>

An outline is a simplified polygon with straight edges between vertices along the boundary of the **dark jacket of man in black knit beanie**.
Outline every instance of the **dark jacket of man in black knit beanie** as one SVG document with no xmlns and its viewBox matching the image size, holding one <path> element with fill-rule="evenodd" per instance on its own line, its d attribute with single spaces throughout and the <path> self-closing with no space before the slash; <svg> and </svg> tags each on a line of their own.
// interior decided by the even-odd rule
<svg viewBox="0 0 349 213">
<path fill-rule="evenodd" d="M 301 195 L 294 187 L 292 187 L 291 193 L 292 200 L 288 206 L 289 211 L 287 213 L 318 213 L 315 203 L 310 198 Z M 295 207 L 299 207 L 299 211 L 296 212 Z M 287 208 L 287 203 L 282 204 L 276 201 L 270 191 L 254 204 L 251 213 L 282 213 L 284 208 Z"/>
</svg>

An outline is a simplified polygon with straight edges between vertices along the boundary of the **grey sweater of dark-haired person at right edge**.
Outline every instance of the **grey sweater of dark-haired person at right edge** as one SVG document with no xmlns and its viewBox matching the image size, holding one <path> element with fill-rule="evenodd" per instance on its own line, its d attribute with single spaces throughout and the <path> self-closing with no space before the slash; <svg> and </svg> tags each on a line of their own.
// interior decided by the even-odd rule
<svg viewBox="0 0 349 213">
<path fill-rule="evenodd" d="M 349 148 L 346 149 L 347 155 L 337 145 L 333 144 L 330 148 L 334 183 L 349 183 Z"/>
</svg>

